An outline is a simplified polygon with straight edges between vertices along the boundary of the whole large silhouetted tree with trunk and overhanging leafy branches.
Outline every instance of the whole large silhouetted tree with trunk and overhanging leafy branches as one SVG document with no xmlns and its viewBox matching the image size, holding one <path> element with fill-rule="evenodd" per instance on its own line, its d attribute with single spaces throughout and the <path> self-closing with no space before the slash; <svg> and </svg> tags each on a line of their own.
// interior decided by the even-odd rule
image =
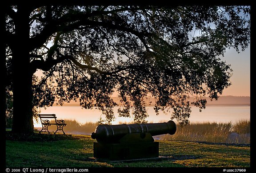
<svg viewBox="0 0 256 173">
<path fill-rule="evenodd" d="M 250 7 L 239 6 L 6 6 L 6 90 L 13 93 L 12 131 L 33 132 L 33 107 L 79 100 L 114 119 L 172 109 L 187 124 L 191 105 L 218 99 L 231 85 L 227 48 L 250 42 Z M 36 70 L 44 76 L 34 76 Z M 193 102 L 188 98 L 195 96 Z"/>
</svg>

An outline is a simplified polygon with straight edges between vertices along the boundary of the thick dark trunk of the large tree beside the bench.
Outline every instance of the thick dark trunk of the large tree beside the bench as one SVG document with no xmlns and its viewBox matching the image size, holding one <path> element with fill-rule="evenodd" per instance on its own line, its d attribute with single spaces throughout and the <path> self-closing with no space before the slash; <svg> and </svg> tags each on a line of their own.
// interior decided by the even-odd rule
<svg viewBox="0 0 256 173">
<path fill-rule="evenodd" d="M 18 6 L 19 7 L 19 6 Z M 13 119 L 12 131 L 33 133 L 32 70 L 29 57 L 29 11 L 26 6 L 17 8 L 15 40 L 12 50 Z"/>
</svg>

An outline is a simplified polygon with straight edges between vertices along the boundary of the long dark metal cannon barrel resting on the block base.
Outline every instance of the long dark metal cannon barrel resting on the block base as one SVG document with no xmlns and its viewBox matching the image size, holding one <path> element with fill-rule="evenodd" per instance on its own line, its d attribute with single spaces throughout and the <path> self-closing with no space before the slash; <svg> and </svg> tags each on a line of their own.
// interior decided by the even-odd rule
<svg viewBox="0 0 256 173">
<path fill-rule="evenodd" d="M 116 143 L 126 134 L 150 133 L 152 136 L 176 132 L 176 124 L 169 120 L 167 123 L 135 123 L 135 124 L 102 124 L 96 127 L 91 137 L 99 143 Z"/>
</svg>

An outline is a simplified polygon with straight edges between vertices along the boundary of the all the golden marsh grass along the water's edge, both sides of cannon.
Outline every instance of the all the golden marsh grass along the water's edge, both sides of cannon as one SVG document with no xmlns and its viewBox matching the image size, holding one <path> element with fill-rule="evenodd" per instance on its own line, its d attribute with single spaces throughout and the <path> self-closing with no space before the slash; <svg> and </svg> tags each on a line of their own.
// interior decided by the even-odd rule
<svg viewBox="0 0 256 173">
<path fill-rule="evenodd" d="M 65 123 L 68 125 L 64 127 L 64 131 L 76 135 L 90 135 L 97 127 L 97 124 L 93 122 L 79 123 L 72 119 L 65 119 Z M 119 122 L 119 124 L 122 123 L 129 124 L 133 122 Z M 250 144 L 250 120 L 240 120 L 234 124 L 231 122 L 190 123 L 183 127 L 176 124 L 176 128 L 174 135 L 159 135 L 156 136 L 156 139 Z M 49 127 L 49 131 L 56 131 L 56 127 Z"/>
</svg>

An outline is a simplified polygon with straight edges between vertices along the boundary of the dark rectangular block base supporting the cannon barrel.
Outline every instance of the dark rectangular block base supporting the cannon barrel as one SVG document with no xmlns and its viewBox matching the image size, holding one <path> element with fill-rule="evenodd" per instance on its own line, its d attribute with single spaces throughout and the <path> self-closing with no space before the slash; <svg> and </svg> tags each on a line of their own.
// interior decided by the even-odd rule
<svg viewBox="0 0 256 173">
<path fill-rule="evenodd" d="M 110 161 L 158 158 L 159 142 L 93 143 L 93 157 Z"/>
</svg>

